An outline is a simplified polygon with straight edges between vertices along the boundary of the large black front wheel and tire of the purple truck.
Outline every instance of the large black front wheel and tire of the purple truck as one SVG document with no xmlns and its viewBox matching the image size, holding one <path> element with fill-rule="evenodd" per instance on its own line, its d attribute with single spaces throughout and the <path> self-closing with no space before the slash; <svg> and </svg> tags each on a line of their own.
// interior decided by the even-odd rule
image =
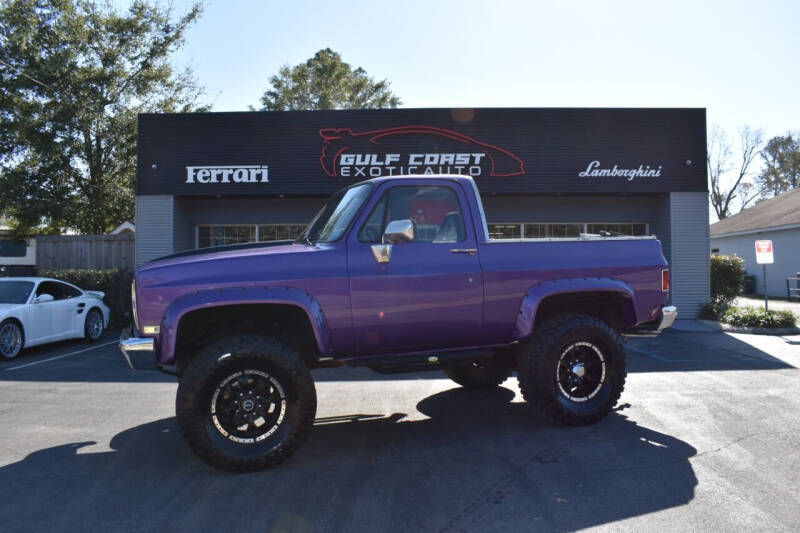
<svg viewBox="0 0 800 533">
<path fill-rule="evenodd" d="M 233 472 L 287 459 L 314 425 L 317 396 L 302 358 L 276 339 L 234 335 L 203 348 L 178 385 L 186 442 L 208 464 Z"/>
</svg>

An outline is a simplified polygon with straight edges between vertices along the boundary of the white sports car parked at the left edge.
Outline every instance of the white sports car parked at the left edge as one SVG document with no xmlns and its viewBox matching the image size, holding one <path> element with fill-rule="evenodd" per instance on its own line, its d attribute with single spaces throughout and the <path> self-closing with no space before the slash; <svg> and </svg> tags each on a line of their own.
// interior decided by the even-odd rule
<svg viewBox="0 0 800 533">
<path fill-rule="evenodd" d="M 49 278 L 0 278 L 0 359 L 64 339 L 96 341 L 110 311 L 99 291 Z"/>
</svg>

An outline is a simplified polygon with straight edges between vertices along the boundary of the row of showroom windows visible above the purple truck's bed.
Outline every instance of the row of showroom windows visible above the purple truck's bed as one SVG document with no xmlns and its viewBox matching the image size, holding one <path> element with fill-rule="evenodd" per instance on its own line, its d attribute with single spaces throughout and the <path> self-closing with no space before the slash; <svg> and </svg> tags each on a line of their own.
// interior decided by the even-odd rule
<svg viewBox="0 0 800 533">
<path fill-rule="evenodd" d="M 491 239 L 526 239 L 578 237 L 581 233 L 610 231 L 622 235 L 649 235 L 650 230 L 644 222 L 620 223 L 557 223 L 557 222 L 509 222 L 489 224 Z"/>
</svg>

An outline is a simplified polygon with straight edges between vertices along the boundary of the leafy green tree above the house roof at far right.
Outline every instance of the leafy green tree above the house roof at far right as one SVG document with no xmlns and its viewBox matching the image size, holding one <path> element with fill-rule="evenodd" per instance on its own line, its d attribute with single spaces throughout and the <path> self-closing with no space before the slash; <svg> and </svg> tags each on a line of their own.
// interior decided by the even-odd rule
<svg viewBox="0 0 800 533">
<path fill-rule="evenodd" d="M 757 182 L 764 198 L 800 186 L 800 139 L 791 133 L 773 137 L 761 151 L 761 158 L 764 169 Z"/>
</svg>

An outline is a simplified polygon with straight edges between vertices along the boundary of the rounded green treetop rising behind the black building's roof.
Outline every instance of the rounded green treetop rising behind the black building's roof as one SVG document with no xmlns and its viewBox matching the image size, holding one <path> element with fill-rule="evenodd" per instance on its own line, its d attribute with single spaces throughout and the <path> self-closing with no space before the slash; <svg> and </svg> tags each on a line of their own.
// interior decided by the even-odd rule
<svg viewBox="0 0 800 533">
<path fill-rule="evenodd" d="M 388 81 L 375 81 L 361 67 L 353 70 L 330 48 L 305 63 L 284 65 L 269 83 L 262 111 L 395 108 L 402 103 Z"/>
</svg>

